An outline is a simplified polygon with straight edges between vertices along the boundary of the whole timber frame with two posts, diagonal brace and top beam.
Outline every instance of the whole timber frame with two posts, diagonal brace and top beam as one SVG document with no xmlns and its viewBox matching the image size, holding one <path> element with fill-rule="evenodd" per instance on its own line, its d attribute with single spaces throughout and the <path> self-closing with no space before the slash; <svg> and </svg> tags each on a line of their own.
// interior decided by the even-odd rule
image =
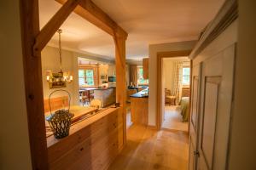
<svg viewBox="0 0 256 170">
<path fill-rule="evenodd" d="M 91 0 L 55 0 L 62 7 L 40 30 L 38 0 L 20 0 L 20 26 L 26 87 L 26 112 L 33 169 L 48 169 L 48 153 L 44 125 L 44 95 L 41 51 L 72 12 L 106 31 L 113 37 L 116 64 L 116 101 L 123 112 L 124 142 L 125 115 L 125 40 L 128 34 Z"/>
</svg>

